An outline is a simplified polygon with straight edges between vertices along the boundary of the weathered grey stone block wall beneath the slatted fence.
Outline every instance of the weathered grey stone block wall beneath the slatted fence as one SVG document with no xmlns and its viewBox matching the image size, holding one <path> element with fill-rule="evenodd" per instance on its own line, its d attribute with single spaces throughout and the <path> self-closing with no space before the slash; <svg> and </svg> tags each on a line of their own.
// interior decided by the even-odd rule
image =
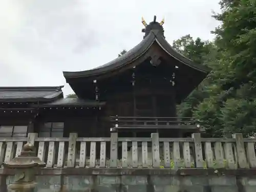
<svg viewBox="0 0 256 192">
<path fill-rule="evenodd" d="M 37 176 L 34 192 L 254 192 L 256 176 Z"/>
</svg>

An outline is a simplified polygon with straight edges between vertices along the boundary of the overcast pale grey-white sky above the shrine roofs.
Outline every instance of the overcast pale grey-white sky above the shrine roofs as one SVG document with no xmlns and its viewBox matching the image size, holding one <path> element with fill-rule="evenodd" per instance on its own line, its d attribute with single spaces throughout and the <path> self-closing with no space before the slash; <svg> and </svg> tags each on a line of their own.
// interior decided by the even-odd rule
<svg viewBox="0 0 256 192">
<path fill-rule="evenodd" d="M 141 16 L 165 18 L 166 40 L 204 40 L 219 0 L 0 0 L 0 86 L 60 86 L 62 71 L 94 68 L 143 38 Z"/>
</svg>

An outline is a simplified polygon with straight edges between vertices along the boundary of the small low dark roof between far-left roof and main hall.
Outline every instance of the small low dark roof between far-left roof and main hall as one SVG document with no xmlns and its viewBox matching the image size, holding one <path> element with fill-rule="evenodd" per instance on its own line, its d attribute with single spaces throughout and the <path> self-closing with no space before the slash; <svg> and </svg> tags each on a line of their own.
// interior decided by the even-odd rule
<svg viewBox="0 0 256 192">
<path fill-rule="evenodd" d="M 46 106 L 102 106 L 105 102 L 95 101 L 95 100 L 83 100 L 79 98 L 62 98 L 56 101 L 46 103 L 40 107 Z"/>
</svg>

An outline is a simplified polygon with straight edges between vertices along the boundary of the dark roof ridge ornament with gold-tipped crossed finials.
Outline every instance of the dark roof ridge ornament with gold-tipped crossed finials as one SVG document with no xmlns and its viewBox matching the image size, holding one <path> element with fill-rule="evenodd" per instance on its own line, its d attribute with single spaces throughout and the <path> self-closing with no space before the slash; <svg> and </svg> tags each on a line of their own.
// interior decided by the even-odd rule
<svg viewBox="0 0 256 192">
<path fill-rule="evenodd" d="M 151 22 L 149 25 L 145 22 L 145 19 L 142 17 L 141 23 L 145 26 L 144 29 L 142 29 L 142 33 L 145 33 L 144 37 L 145 38 L 152 30 L 158 30 L 162 33 L 162 36 L 164 37 L 164 30 L 163 30 L 163 24 L 164 24 L 164 18 L 161 20 L 160 23 L 157 21 L 157 16 L 154 15 L 154 20 Z"/>
</svg>

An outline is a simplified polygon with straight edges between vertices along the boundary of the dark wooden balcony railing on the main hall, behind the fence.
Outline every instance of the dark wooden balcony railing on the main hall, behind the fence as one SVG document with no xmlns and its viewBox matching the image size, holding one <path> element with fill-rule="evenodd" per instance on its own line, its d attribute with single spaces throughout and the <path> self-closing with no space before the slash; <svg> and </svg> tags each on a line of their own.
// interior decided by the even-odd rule
<svg viewBox="0 0 256 192">
<path fill-rule="evenodd" d="M 195 119 L 190 117 L 119 117 L 111 116 L 113 130 L 118 129 L 197 129 Z"/>
</svg>

